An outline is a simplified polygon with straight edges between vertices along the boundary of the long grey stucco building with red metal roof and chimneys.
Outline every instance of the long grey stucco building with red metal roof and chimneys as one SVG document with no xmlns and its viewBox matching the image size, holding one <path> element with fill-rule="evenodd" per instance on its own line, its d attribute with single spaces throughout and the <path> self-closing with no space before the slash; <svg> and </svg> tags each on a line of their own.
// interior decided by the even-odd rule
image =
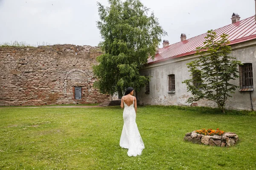
<svg viewBox="0 0 256 170">
<path fill-rule="evenodd" d="M 256 1 L 255 1 L 256 3 Z M 238 66 L 239 79 L 230 81 L 240 86 L 231 94 L 233 97 L 226 102 L 226 108 L 246 109 L 256 108 L 256 15 L 240 20 L 238 14 L 233 13 L 232 23 L 215 29 L 219 40 L 222 34 L 228 34 L 228 40 L 235 57 L 244 65 Z M 204 46 L 207 33 L 186 39 L 186 34 L 180 35 L 180 42 L 169 45 L 163 40 L 163 48 L 157 50 L 154 59 L 148 58 L 148 64 L 140 71 L 141 75 L 150 76 L 150 82 L 137 93 L 137 100 L 141 105 L 190 105 L 187 99 L 192 95 L 182 82 L 191 79 L 187 63 L 198 58 L 196 48 Z M 216 107 L 215 102 L 207 99 L 192 105 Z"/>
</svg>

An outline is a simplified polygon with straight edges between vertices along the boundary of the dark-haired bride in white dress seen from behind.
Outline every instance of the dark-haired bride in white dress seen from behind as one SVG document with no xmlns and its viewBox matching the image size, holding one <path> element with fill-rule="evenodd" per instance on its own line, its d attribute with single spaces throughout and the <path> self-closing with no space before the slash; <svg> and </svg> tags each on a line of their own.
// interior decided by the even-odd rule
<svg viewBox="0 0 256 170">
<path fill-rule="evenodd" d="M 120 138 L 120 146 L 128 149 L 128 156 L 141 155 L 145 148 L 141 139 L 140 132 L 136 124 L 137 100 L 133 88 L 127 88 L 125 96 L 121 99 L 121 108 L 123 112 L 124 126 Z"/>
</svg>

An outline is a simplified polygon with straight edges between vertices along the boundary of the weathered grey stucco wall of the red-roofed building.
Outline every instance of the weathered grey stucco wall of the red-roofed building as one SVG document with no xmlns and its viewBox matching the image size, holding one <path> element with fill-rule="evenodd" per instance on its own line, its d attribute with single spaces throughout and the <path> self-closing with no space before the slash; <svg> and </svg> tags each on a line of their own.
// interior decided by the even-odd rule
<svg viewBox="0 0 256 170">
<path fill-rule="evenodd" d="M 253 77 L 256 77 L 256 40 L 250 40 L 231 45 L 232 53 L 230 56 L 236 57 L 242 63 L 252 63 Z M 188 55 L 169 59 L 163 62 L 157 62 L 147 65 L 140 71 L 142 75 L 151 76 L 149 82 L 150 93 L 145 93 L 145 88 L 142 88 L 138 93 L 138 101 L 141 105 L 190 105 L 187 99 L 191 96 L 187 92 L 186 84 L 182 82 L 190 79 L 187 63 L 196 59 L 196 55 Z M 169 91 L 169 77 L 168 75 L 175 75 L 175 93 L 168 93 Z M 239 79 L 231 82 L 239 86 Z M 255 88 L 256 81 L 253 80 L 253 88 Z M 239 91 L 236 89 L 233 97 L 229 98 L 226 103 L 226 108 L 229 109 L 246 109 L 251 110 L 251 100 L 249 91 Z M 256 109 L 256 92 L 251 91 L 252 105 Z M 208 100 L 198 101 L 198 106 L 216 107 L 214 102 Z"/>
</svg>

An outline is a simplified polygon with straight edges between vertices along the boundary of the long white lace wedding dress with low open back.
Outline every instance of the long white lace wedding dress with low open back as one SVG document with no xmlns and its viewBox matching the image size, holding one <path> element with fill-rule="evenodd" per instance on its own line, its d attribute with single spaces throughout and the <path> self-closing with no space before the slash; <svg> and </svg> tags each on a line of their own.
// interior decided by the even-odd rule
<svg viewBox="0 0 256 170">
<path fill-rule="evenodd" d="M 128 149 L 128 156 L 141 155 L 141 152 L 145 148 L 145 146 L 141 139 L 140 132 L 136 124 L 134 101 L 133 104 L 131 104 L 130 106 L 126 105 L 125 102 L 124 105 L 124 126 L 120 138 L 120 146 Z"/>
</svg>

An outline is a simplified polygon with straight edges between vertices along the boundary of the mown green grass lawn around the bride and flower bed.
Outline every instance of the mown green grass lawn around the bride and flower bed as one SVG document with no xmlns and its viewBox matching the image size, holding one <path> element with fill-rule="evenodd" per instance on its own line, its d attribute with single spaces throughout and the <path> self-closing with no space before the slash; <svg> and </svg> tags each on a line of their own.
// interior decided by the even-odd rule
<svg viewBox="0 0 256 170">
<path fill-rule="evenodd" d="M 0 108 L 3 170 L 252 170 L 256 168 L 256 116 L 207 109 L 139 107 L 145 149 L 128 157 L 119 147 L 122 110 L 108 108 Z M 238 134 L 230 148 L 184 142 L 185 133 L 220 128 Z"/>
</svg>

